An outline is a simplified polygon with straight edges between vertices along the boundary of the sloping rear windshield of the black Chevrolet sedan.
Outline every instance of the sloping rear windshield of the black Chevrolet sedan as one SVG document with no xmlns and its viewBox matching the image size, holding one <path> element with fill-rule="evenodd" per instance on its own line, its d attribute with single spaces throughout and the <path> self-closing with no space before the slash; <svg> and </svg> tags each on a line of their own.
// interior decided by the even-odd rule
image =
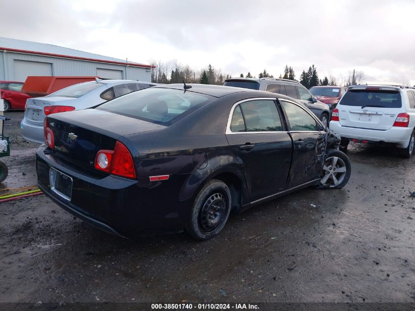
<svg viewBox="0 0 415 311">
<path fill-rule="evenodd" d="M 115 98 L 97 109 L 170 125 L 215 97 L 170 88 L 146 88 Z"/>
</svg>

